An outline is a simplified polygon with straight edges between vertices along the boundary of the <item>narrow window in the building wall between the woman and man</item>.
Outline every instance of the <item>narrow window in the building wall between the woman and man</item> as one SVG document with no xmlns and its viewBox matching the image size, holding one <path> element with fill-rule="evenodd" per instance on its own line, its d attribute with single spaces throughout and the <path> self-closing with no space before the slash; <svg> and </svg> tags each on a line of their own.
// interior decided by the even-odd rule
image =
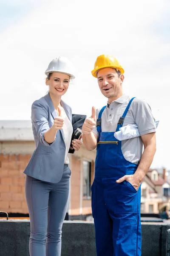
<svg viewBox="0 0 170 256">
<path fill-rule="evenodd" d="M 83 161 L 83 198 L 91 198 L 91 162 Z"/>
</svg>

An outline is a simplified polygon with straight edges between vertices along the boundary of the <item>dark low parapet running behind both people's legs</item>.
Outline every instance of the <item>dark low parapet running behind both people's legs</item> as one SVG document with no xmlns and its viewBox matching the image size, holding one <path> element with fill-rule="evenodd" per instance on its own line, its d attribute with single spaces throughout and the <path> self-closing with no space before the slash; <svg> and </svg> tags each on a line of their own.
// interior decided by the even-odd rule
<svg viewBox="0 0 170 256">
<path fill-rule="evenodd" d="M 29 256 L 29 235 L 29 220 L 0 220 L 0 256 Z M 168 247 L 170 224 L 142 223 L 142 256 L 170 256 L 166 238 Z M 96 256 L 93 222 L 64 222 L 62 256 Z"/>
</svg>

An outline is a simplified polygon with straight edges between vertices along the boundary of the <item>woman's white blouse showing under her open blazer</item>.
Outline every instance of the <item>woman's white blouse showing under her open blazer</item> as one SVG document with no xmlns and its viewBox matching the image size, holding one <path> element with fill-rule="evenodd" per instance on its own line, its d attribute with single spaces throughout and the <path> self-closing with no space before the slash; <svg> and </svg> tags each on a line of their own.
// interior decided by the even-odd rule
<svg viewBox="0 0 170 256">
<path fill-rule="evenodd" d="M 73 126 L 68 119 L 64 108 L 62 108 L 62 118 L 64 118 L 64 125 L 62 127 L 64 133 L 64 142 L 65 142 L 65 160 L 64 163 L 69 164 L 68 151 L 71 143 L 71 136 L 73 134 Z"/>
</svg>

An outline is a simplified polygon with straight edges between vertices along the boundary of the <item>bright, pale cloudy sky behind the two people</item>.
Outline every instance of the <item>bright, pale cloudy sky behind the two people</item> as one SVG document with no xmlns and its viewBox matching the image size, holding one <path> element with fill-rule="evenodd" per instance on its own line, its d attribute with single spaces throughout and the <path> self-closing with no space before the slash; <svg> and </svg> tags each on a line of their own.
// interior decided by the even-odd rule
<svg viewBox="0 0 170 256">
<path fill-rule="evenodd" d="M 115 56 L 124 93 L 146 99 L 159 119 L 152 168 L 170 169 L 169 0 L 0 0 L 0 120 L 30 120 L 45 95 L 45 70 L 57 56 L 75 70 L 63 100 L 91 116 L 107 99 L 91 75 L 97 56 Z"/>
</svg>

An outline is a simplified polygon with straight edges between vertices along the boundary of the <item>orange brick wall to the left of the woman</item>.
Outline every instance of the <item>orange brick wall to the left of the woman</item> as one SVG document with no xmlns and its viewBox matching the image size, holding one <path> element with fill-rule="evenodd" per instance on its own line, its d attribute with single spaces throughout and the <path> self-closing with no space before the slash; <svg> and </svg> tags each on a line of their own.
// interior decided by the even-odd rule
<svg viewBox="0 0 170 256">
<path fill-rule="evenodd" d="M 0 211 L 28 213 L 24 169 L 31 154 L 0 154 Z"/>
</svg>

